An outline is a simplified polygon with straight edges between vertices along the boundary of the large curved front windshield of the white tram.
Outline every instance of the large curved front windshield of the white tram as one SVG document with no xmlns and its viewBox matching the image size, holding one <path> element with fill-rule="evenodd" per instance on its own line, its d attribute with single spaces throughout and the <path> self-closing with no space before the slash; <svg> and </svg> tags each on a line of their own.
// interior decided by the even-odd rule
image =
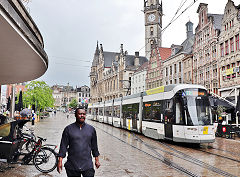
<svg viewBox="0 0 240 177">
<path fill-rule="evenodd" d="M 210 125 L 212 114 L 207 91 L 203 89 L 185 89 L 182 96 L 186 105 L 187 124 Z"/>
</svg>

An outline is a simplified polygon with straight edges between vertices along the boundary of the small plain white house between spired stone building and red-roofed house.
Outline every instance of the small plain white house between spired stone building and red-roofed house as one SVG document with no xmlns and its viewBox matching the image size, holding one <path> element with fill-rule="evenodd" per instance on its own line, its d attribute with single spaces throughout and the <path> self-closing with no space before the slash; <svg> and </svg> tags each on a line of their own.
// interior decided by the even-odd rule
<svg viewBox="0 0 240 177">
<path fill-rule="evenodd" d="M 147 75 L 148 62 L 133 73 L 131 77 L 131 94 L 144 92 L 146 90 L 146 75 Z"/>
</svg>

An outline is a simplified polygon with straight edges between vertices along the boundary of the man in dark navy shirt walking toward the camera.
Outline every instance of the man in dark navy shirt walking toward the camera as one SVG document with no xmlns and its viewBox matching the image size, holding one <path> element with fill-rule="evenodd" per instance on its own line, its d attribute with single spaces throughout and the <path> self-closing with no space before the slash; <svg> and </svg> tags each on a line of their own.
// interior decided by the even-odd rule
<svg viewBox="0 0 240 177">
<path fill-rule="evenodd" d="M 95 174 L 92 156 L 95 157 L 96 168 L 100 167 L 96 130 L 85 123 L 84 109 L 77 108 L 75 117 L 76 122 L 68 125 L 63 131 L 57 170 L 59 173 L 62 171 L 62 159 L 68 152 L 64 165 L 67 176 L 92 177 Z"/>
</svg>

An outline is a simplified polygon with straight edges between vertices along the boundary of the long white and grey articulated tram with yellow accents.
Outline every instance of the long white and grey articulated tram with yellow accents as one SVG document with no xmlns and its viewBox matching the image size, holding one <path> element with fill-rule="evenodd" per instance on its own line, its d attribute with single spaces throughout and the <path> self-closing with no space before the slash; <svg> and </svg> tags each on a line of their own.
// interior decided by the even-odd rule
<svg viewBox="0 0 240 177">
<path fill-rule="evenodd" d="M 88 114 L 92 120 L 100 121 L 103 116 L 104 123 L 153 139 L 198 144 L 215 141 L 209 96 L 200 85 L 161 86 L 89 105 Z"/>
</svg>

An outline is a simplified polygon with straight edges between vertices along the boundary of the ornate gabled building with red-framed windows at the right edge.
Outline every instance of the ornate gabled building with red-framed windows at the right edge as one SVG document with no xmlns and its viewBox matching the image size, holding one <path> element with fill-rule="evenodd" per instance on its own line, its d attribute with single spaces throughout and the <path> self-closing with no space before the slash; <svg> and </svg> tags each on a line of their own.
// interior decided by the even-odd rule
<svg viewBox="0 0 240 177">
<path fill-rule="evenodd" d="M 223 97 L 235 99 L 236 86 L 240 85 L 240 6 L 228 0 L 222 20 L 222 30 L 219 36 L 219 92 Z"/>
</svg>

